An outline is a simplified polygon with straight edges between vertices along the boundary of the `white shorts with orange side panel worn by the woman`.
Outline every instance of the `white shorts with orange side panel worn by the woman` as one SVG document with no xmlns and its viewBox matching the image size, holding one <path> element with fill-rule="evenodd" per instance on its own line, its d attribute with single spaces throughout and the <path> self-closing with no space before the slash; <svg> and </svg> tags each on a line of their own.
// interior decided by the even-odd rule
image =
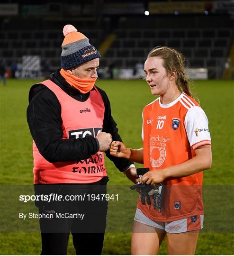
<svg viewBox="0 0 234 256">
<path fill-rule="evenodd" d="M 154 221 L 146 217 L 140 209 L 136 208 L 134 220 L 157 229 L 163 229 L 168 233 L 178 234 L 202 229 L 204 215 L 191 216 L 188 218 L 178 219 L 170 222 Z"/>
</svg>

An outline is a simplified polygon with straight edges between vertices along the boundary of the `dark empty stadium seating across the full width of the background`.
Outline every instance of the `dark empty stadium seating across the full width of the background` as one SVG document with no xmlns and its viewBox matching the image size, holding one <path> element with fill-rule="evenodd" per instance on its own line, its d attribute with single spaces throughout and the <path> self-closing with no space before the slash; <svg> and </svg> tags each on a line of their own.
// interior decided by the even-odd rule
<svg viewBox="0 0 234 256">
<path fill-rule="evenodd" d="M 116 26 L 111 27 L 115 19 Z M 233 44 L 234 21 L 227 15 L 152 15 L 151 17 L 8 18 L 1 23 L 0 56 L 6 66 L 21 63 L 23 55 L 39 55 L 52 69 L 60 66 L 62 27 L 73 24 L 99 47 L 115 35 L 104 51 L 101 67 L 135 68 L 154 46 L 171 46 L 182 52 L 189 68 L 207 68 L 209 78 L 221 78 Z"/>
</svg>

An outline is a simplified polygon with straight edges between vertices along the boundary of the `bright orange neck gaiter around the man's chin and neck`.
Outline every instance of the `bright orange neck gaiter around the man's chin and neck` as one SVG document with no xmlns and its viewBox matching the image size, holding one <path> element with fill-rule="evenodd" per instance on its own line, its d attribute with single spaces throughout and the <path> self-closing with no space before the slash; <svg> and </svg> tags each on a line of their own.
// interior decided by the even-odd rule
<svg viewBox="0 0 234 256">
<path fill-rule="evenodd" d="M 78 89 L 81 93 L 87 93 L 93 89 L 93 86 L 97 78 L 82 79 L 74 75 L 69 74 L 63 68 L 60 70 L 60 74 L 70 85 Z"/>
</svg>

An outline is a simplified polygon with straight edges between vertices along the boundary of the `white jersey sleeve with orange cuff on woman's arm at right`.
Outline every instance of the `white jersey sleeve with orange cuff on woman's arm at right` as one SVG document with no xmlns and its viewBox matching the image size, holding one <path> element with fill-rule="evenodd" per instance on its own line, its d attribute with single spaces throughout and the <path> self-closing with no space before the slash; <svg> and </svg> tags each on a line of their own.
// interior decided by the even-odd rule
<svg viewBox="0 0 234 256">
<path fill-rule="evenodd" d="M 211 145 L 208 119 L 202 108 L 198 106 L 190 108 L 185 116 L 184 124 L 193 149 L 202 145 Z"/>
</svg>

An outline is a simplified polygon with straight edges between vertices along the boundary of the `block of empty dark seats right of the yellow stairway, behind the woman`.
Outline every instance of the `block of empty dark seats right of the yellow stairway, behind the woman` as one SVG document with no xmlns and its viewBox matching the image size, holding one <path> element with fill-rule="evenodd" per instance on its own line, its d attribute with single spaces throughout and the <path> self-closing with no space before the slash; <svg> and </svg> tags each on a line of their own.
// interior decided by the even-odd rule
<svg viewBox="0 0 234 256">
<path fill-rule="evenodd" d="M 176 22 L 175 22 L 176 20 Z M 182 52 L 189 68 L 207 68 L 210 78 L 220 78 L 233 41 L 233 21 L 226 16 L 153 17 L 120 20 L 117 38 L 102 59 L 107 65 L 134 68 L 144 63 L 154 46 L 170 46 Z"/>
</svg>

